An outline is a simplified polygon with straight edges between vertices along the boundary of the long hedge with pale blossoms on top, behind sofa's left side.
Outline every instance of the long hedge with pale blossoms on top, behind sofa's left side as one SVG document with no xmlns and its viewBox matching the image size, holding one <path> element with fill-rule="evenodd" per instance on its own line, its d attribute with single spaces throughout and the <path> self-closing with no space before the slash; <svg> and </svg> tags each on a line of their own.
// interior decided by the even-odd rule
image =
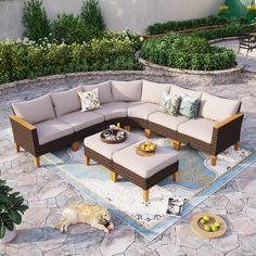
<svg viewBox="0 0 256 256">
<path fill-rule="evenodd" d="M 129 39 L 90 43 L 0 42 L 0 84 L 72 72 L 140 69 Z"/>
</svg>

